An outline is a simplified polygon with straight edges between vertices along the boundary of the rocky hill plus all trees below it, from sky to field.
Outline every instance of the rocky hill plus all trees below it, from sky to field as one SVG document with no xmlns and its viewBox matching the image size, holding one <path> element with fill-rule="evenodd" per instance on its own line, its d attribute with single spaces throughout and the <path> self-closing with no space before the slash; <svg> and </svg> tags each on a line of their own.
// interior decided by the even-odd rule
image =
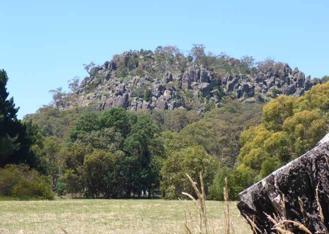
<svg viewBox="0 0 329 234">
<path fill-rule="evenodd" d="M 210 199 L 223 199 L 225 177 L 238 199 L 329 130 L 328 77 L 270 59 L 194 45 L 189 55 L 158 47 L 85 69 L 71 92 L 51 91 L 52 103 L 22 121 L 0 71 L 0 196 L 174 199 L 193 194 L 186 173 L 203 172 Z"/>
</svg>

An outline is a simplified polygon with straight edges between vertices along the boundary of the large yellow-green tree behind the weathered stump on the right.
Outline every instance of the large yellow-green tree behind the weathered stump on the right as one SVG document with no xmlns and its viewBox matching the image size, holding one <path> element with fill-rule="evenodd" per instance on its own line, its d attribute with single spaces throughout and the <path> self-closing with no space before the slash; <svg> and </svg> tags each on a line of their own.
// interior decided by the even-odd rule
<svg viewBox="0 0 329 234">
<path fill-rule="evenodd" d="M 329 131 L 329 83 L 303 96 L 279 96 L 263 108 L 262 123 L 241 135 L 239 168 L 269 175 L 314 147 Z"/>
</svg>

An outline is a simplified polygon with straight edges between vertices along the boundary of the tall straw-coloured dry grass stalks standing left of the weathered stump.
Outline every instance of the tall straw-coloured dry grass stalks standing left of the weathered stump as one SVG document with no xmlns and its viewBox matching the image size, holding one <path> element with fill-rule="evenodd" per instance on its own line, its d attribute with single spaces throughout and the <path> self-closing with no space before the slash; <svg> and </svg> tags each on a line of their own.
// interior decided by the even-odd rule
<svg viewBox="0 0 329 234">
<path fill-rule="evenodd" d="M 198 211 L 198 225 L 197 225 L 197 232 L 198 234 L 208 234 L 209 231 L 209 225 L 207 221 L 207 213 L 206 213 L 206 192 L 205 192 L 205 184 L 202 173 L 200 173 L 200 183 L 201 183 L 201 189 L 198 185 L 198 183 L 194 182 L 192 178 L 187 175 L 188 180 L 190 181 L 196 195 L 197 199 L 194 198 L 191 194 L 182 192 L 183 195 L 189 197 L 195 204 L 197 211 Z M 228 197 L 228 188 L 227 188 L 227 178 L 225 178 L 225 187 L 224 189 L 224 200 L 225 200 L 225 209 L 224 209 L 224 227 L 225 227 L 225 234 L 235 234 L 233 224 L 229 217 L 229 197 Z M 191 212 L 190 214 L 190 220 L 192 220 Z M 186 234 L 195 234 L 195 228 L 193 227 L 193 222 L 189 223 L 187 222 L 187 216 L 185 212 L 185 221 L 184 221 L 184 228 Z M 212 233 L 215 234 L 215 230 L 212 229 Z"/>
</svg>

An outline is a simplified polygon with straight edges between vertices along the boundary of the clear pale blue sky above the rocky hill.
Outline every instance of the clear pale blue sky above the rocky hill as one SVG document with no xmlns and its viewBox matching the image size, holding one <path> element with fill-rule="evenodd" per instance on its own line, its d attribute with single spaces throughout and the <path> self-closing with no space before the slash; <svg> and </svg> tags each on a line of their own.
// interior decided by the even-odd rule
<svg viewBox="0 0 329 234">
<path fill-rule="evenodd" d="M 193 43 L 237 58 L 271 56 L 322 77 L 329 74 L 329 0 L 0 2 L 0 68 L 19 118 L 49 103 L 49 90 L 84 78 L 83 63 Z"/>
</svg>

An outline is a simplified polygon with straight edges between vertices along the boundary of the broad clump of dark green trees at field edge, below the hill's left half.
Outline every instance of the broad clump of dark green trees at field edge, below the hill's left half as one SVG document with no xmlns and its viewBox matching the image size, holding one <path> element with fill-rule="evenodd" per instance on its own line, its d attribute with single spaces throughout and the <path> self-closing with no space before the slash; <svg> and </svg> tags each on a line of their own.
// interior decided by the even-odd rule
<svg viewBox="0 0 329 234">
<path fill-rule="evenodd" d="M 164 150 L 158 133 L 149 115 L 122 108 L 81 116 L 61 151 L 67 190 L 110 198 L 159 189 Z"/>
</svg>

